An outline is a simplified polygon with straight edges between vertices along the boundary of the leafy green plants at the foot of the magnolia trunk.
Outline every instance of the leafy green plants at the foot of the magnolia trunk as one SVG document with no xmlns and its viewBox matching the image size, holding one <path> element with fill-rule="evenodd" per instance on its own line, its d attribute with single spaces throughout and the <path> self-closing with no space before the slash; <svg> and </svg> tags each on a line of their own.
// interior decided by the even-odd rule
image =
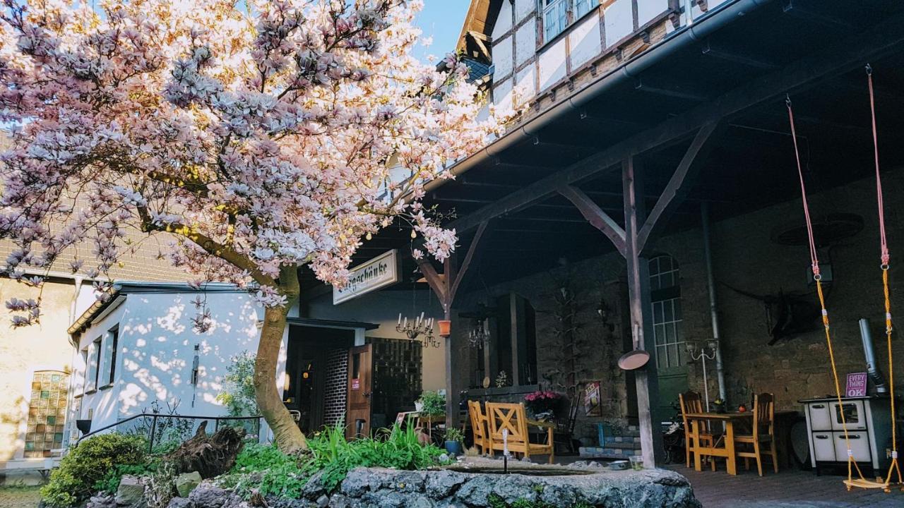
<svg viewBox="0 0 904 508">
<path fill-rule="evenodd" d="M 287 456 L 272 445 L 249 444 L 236 457 L 229 475 L 218 478 L 224 488 L 247 496 L 251 488 L 260 494 L 298 498 L 311 476 L 322 473 L 327 491 L 334 491 L 355 467 L 426 469 L 443 452 L 418 441 L 413 428 L 392 428 L 376 438 L 345 439 L 341 427 L 325 428 L 307 441 L 310 453 Z"/>
</svg>

